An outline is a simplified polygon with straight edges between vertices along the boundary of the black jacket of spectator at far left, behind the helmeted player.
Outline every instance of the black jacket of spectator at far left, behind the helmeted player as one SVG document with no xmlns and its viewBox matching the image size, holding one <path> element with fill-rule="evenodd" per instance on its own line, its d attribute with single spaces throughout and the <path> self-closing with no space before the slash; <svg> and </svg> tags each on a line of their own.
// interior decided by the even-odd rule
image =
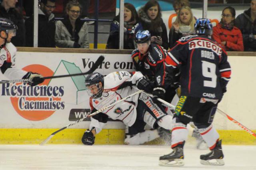
<svg viewBox="0 0 256 170">
<path fill-rule="evenodd" d="M 25 46 L 26 37 L 24 19 L 22 13 L 18 10 L 18 8 L 10 8 L 7 12 L 5 8 L 2 5 L 0 5 L 0 17 L 7 18 L 18 26 L 16 36 L 12 38 L 12 44 L 18 47 Z"/>
</svg>

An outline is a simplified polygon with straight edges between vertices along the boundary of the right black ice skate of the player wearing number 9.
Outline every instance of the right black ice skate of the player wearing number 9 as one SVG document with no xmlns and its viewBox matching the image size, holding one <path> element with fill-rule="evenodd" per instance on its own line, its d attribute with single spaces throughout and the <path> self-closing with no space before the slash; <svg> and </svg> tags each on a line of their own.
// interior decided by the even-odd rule
<svg viewBox="0 0 256 170">
<path fill-rule="evenodd" d="M 216 146 L 210 153 L 201 155 L 201 164 L 203 165 L 224 165 L 224 155 L 221 148 L 221 140 L 216 143 Z"/>
</svg>

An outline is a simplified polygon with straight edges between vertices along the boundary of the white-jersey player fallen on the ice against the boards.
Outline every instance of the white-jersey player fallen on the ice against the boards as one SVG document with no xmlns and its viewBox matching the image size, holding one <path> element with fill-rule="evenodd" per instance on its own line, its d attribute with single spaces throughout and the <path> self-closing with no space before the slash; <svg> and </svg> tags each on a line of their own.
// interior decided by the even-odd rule
<svg viewBox="0 0 256 170">
<path fill-rule="evenodd" d="M 151 84 L 141 72 L 112 72 L 105 77 L 94 72 L 86 77 L 85 84 L 90 95 L 91 112 L 113 104 L 138 89 L 152 92 Z M 170 130 L 172 125 L 172 116 L 166 114 L 161 104 L 155 104 L 150 96 L 142 92 L 92 116 L 90 127 L 82 136 L 84 144 L 94 144 L 95 135 L 100 133 L 108 117 L 121 120 L 129 126 L 131 131 L 125 139 L 126 144 L 142 144 L 159 137 L 156 131 L 143 131 L 141 128 L 144 128 L 145 124 L 167 130 Z"/>
</svg>

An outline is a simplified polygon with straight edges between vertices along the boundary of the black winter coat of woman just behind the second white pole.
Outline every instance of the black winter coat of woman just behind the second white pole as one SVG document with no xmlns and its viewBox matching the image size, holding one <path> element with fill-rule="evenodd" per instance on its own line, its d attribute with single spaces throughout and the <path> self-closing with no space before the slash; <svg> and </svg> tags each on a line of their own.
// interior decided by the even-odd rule
<svg viewBox="0 0 256 170">
<path fill-rule="evenodd" d="M 140 22 L 135 22 L 132 25 L 124 25 L 124 49 L 135 49 L 134 37 L 139 30 L 143 30 Z M 106 48 L 119 49 L 119 15 L 115 16 L 110 25 L 110 34 Z"/>
</svg>

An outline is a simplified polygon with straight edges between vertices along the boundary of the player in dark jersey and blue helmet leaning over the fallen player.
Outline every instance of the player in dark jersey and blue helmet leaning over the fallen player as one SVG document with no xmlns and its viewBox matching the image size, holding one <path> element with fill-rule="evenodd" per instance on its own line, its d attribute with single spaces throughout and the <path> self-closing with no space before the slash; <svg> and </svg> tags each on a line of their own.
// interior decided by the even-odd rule
<svg viewBox="0 0 256 170">
<path fill-rule="evenodd" d="M 142 72 L 153 83 L 152 94 L 171 102 L 178 86 L 168 81 L 164 64 L 168 54 L 162 46 L 151 43 L 150 38 L 148 30 L 137 32 L 135 37 L 137 49 L 132 52 L 132 61 L 136 70 Z"/>
</svg>

